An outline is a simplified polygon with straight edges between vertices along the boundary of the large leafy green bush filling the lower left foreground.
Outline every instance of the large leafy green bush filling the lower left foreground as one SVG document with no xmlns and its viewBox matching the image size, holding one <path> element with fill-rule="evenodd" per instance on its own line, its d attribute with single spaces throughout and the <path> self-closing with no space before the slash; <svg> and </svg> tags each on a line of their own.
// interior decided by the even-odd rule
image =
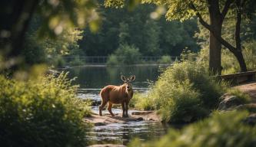
<svg viewBox="0 0 256 147">
<path fill-rule="evenodd" d="M 91 111 L 66 74 L 21 81 L 0 76 L 2 146 L 84 146 Z"/>
</svg>

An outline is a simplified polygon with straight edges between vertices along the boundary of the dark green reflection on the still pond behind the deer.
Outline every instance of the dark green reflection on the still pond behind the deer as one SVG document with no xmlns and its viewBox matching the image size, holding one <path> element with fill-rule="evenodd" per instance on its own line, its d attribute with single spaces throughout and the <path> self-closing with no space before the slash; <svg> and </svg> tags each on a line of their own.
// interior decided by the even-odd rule
<svg viewBox="0 0 256 147">
<path fill-rule="evenodd" d="M 148 87 L 148 80 L 155 81 L 159 74 L 158 66 L 129 66 L 129 67 L 72 67 L 69 68 L 69 77 L 77 77 L 75 84 L 81 88 L 102 88 L 105 85 L 120 85 L 120 75 L 129 76 L 134 74 L 136 80 L 134 87 Z"/>
</svg>

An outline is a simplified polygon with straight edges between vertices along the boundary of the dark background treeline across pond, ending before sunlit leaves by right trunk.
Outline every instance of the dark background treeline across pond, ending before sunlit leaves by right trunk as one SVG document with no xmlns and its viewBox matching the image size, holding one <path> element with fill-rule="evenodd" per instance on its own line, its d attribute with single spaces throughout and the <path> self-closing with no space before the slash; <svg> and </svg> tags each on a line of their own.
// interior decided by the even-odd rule
<svg viewBox="0 0 256 147">
<path fill-rule="evenodd" d="M 85 64 L 81 56 L 111 56 L 109 64 L 133 64 L 129 63 L 131 58 L 136 62 L 141 56 L 179 56 L 184 49 L 200 50 L 194 38 L 194 33 L 199 31 L 196 19 L 180 22 L 161 17 L 154 20 L 150 14 L 156 8 L 155 5 L 140 5 L 134 11 L 128 11 L 102 6 L 101 27 L 97 32 L 91 32 L 89 28 L 63 30 L 55 40 L 51 34 L 38 35 L 42 20 L 35 15 L 25 37 L 23 55 L 30 64 L 47 62 L 61 67 L 67 64 L 63 56 L 72 56 L 68 59 L 71 65 Z M 116 61 L 115 56 L 127 58 Z M 170 61 L 165 56 L 161 62 Z"/>
</svg>

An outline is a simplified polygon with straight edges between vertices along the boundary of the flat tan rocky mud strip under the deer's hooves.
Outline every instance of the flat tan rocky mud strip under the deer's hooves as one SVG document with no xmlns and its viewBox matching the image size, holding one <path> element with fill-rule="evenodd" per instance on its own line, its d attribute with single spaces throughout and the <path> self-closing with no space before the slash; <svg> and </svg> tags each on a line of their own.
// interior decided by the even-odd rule
<svg viewBox="0 0 256 147">
<path fill-rule="evenodd" d="M 128 123 L 128 122 L 139 122 L 139 121 L 158 121 L 160 122 L 159 116 L 154 111 L 139 111 L 133 112 L 129 117 L 123 118 L 121 114 L 115 114 L 115 116 L 104 115 L 99 116 L 93 113 L 89 117 L 85 117 L 85 122 L 93 123 L 95 126 L 104 126 L 111 123 Z"/>
</svg>

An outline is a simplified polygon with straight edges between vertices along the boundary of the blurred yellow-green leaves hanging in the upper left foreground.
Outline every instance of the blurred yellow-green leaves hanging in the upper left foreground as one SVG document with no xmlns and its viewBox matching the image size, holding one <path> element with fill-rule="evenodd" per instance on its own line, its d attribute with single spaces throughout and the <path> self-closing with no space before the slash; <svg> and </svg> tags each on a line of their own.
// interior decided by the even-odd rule
<svg viewBox="0 0 256 147">
<path fill-rule="evenodd" d="M 42 19 L 39 34 L 58 35 L 75 27 L 84 28 L 87 24 L 91 31 L 97 31 L 100 18 L 95 10 L 96 5 L 91 0 L 41 2 L 37 9 Z"/>
</svg>

